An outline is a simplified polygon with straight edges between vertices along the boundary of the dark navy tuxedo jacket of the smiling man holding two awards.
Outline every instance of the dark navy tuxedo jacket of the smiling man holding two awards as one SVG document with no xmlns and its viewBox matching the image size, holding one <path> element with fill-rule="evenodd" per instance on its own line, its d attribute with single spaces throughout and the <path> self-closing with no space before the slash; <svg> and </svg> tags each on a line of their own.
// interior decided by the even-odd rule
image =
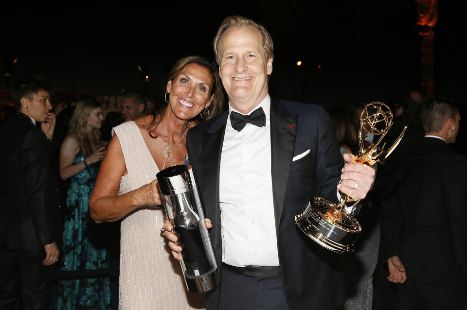
<svg viewBox="0 0 467 310">
<path fill-rule="evenodd" d="M 212 220 L 210 235 L 220 269 L 219 165 L 227 117 L 228 111 L 199 124 L 186 140 L 206 217 Z M 275 227 L 287 303 L 297 310 L 332 309 L 345 300 L 337 254 L 305 236 L 294 216 L 313 195 L 337 200 L 343 160 L 334 126 L 320 106 L 272 98 L 270 122 Z M 307 150 L 307 155 L 292 162 Z M 219 288 L 208 294 L 207 309 L 218 308 L 218 292 Z"/>
</svg>

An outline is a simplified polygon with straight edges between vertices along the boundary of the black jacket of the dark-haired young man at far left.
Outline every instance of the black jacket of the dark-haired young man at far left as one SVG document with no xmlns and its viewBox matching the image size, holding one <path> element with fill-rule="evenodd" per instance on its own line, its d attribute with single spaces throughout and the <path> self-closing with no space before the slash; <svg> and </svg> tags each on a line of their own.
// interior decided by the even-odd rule
<svg viewBox="0 0 467 310">
<path fill-rule="evenodd" d="M 0 127 L 0 247 L 40 250 L 61 241 L 50 142 L 24 114 Z"/>
</svg>

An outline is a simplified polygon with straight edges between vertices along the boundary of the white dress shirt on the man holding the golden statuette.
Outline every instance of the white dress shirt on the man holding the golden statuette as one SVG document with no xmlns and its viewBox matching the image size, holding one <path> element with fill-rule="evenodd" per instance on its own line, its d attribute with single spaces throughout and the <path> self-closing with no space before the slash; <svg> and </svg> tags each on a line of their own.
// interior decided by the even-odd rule
<svg viewBox="0 0 467 310">
<path fill-rule="evenodd" d="M 220 161 L 222 261 L 233 266 L 278 266 L 271 177 L 269 95 L 262 107 L 266 126 L 225 129 Z M 237 111 L 235 111 L 237 112 Z M 251 113 L 250 112 L 250 113 Z"/>
</svg>

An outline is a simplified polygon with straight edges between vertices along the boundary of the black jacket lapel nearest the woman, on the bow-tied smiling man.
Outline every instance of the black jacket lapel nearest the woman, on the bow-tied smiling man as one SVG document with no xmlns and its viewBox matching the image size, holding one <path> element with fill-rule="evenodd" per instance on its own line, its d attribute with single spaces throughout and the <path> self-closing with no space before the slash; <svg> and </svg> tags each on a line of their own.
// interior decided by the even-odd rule
<svg viewBox="0 0 467 310">
<path fill-rule="evenodd" d="M 213 234 L 215 247 L 222 245 L 220 234 L 220 212 L 219 212 L 219 170 L 222 143 L 224 142 L 225 125 L 228 111 L 224 112 L 211 128 L 203 134 L 203 197 L 207 214 L 213 223 L 216 223 Z"/>
</svg>

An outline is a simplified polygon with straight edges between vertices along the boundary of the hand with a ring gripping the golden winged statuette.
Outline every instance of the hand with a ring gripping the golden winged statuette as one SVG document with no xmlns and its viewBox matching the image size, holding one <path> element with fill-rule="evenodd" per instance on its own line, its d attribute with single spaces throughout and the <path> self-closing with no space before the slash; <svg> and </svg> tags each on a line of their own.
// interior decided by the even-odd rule
<svg viewBox="0 0 467 310">
<path fill-rule="evenodd" d="M 342 168 L 342 182 L 337 188 L 355 200 L 365 198 L 373 184 L 375 170 L 366 164 L 351 163 L 355 158 L 352 154 L 343 154 L 343 157 L 347 163 Z"/>
</svg>

